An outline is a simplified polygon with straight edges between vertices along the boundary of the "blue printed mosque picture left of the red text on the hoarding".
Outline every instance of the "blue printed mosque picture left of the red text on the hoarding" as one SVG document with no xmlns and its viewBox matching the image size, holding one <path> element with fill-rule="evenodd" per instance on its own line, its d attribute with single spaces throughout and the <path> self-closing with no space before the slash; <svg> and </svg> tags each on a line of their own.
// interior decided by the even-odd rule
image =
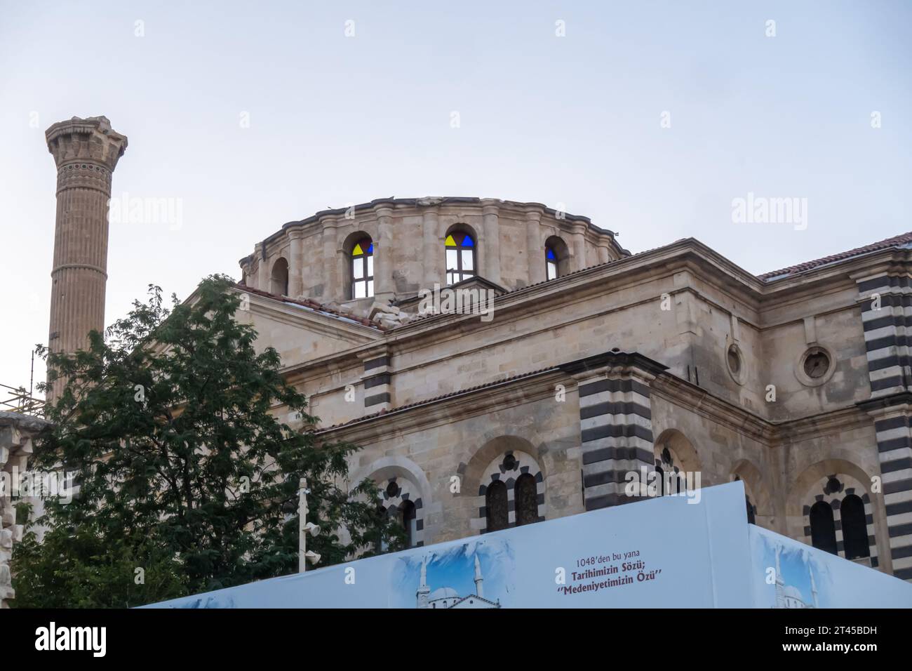
<svg viewBox="0 0 912 671">
<path fill-rule="evenodd" d="M 503 540 L 476 540 L 421 556 L 403 557 L 393 570 L 399 608 L 502 608 L 512 592 L 513 550 Z"/>
</svg>

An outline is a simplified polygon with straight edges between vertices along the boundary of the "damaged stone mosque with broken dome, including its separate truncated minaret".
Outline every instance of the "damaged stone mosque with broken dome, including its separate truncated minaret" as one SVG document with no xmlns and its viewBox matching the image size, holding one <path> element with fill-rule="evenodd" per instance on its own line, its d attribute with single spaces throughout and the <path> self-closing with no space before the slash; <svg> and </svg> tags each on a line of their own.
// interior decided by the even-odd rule
<svg viewBox="0 0 912 671">
<path fill-rule="evenodd" d="M 50 342 L 75 349 L 103 325 L 127 142 L 104 117 L 47 140 Z M 353 481 L 413 545 L 637 500 L 647 468 L 741 479 L 751 522 L 912 580 L 912 233 L 756 276 L 543 204 L 381 198 L 277 226 L 240 266 L 238 319 L 321 435 L 363 447 Z M 435 313 L 435 285 L 490 309 Z"/>
</svg>

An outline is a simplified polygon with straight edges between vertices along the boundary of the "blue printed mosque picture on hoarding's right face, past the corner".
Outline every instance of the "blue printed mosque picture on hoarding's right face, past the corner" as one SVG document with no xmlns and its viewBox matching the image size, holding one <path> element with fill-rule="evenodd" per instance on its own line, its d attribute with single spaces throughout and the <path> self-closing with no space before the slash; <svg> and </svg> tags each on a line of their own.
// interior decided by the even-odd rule
<svg viewBox="0 0 912 671">
<path fill-rule="evenodd" d="M 828 608 L 832 578 L 829 569 L 801 547 L 786 546 L 762 536 L 754 537 L 762 545 L 765 570 L 755 584 L 759 608 Z M 756 550 L 756 549 L 755 549 Z"/>
</svg>

